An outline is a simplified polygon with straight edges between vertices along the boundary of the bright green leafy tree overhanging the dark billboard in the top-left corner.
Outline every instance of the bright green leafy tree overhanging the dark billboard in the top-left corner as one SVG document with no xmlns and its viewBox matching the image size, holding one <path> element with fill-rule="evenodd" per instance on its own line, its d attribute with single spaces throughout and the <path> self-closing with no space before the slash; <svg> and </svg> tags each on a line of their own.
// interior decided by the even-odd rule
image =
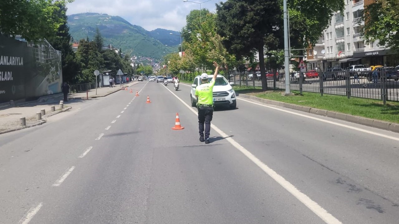
<svg viewBox="0 0 399 224">
<path fill-rule="evenodd" d="M 1 0 L 0 33 L 21 35 L 27 41 L 39 41 L 58 30 L 65 19 L 57 16 L 59 6 L 73 0 Z"/>
</svg>

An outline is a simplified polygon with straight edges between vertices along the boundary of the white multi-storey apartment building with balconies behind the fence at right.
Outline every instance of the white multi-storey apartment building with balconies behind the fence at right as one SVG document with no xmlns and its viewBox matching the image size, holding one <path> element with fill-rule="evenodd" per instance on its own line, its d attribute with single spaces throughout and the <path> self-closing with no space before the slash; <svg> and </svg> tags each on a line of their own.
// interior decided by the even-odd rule
<svg viewBox="0 0 399 224">
<path fill-rule="evenodd" d="M 399 65 L 399 57 L 390 49 L 379 46 L 378 42 L 365 44 L 361 37 L 364 21 L 364 7 L 374 0 L 344 0 L 344 12 L 336 12 L 332 16 L 330 26 L 320 36 L 313 49 L 308 50 L 306 62 L 308 70 L 319 67 L 341 67 L 350 65 Z"/>
</svg>

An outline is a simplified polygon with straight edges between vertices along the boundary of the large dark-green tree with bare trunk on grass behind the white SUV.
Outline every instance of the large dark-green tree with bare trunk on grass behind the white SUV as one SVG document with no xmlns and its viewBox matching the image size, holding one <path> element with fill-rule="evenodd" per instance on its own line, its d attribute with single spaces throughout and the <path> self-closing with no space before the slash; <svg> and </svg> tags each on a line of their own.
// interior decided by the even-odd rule
<svg viewBox="0 0 399 224">
<path fill-rule="evenodd" d="M 278 0 L 227 0 L 216 4 L 217 33 L 229 53 L 237 58 L 251 57 L 259 53 L 262 89 L 267 90 L 264 47 L 276 47 L 275 41 L 281 28 L 282 15 Z M 274 42 L 274 43 L 273 43 Z"/>
</svg>

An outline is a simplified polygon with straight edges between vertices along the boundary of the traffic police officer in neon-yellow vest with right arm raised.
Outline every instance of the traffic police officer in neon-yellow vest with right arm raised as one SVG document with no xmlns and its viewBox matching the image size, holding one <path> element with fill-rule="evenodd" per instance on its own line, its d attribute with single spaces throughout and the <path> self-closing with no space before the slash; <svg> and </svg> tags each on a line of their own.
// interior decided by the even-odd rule
<svg viewBox="0 0 399 224">
<path fill-rule="evenodd" d="M 213 74 L 212 80 L 208 82 L 208 75 L 202 73 L 200 76 L 201 84 L 196 87 L 199 141 L 205 141 L 205 144 L 210 143 L 209 132 L 211 131 L 211 120 L 213 117 L 213 86 L 215 85 L 217 72 L 219 70 L 216 61 L 213 62 L 213 65 L 215 66 L 215 73 Z"/>
</svg>

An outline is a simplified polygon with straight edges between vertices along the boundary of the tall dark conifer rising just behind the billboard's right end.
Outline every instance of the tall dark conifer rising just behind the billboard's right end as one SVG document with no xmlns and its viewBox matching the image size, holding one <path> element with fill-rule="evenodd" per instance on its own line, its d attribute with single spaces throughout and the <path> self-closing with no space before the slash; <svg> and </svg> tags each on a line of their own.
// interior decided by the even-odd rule
<svg viewBox="0 0 399 224">
<path fill-rule="evenodd" d="M 50 36 L 46 37 L 46 39 L 54 49 L 61 51 L 63 81 L 77 83 L 79 80 L 77 75 L 80 71 L 80 66 L 76 59 L 75 52 L 73 52 L 69 43 L 72 37 L 69 34 L 69 27 L 67 25 L 67 7 L 63 2 L 59 1 L 55 2 L 55 6 L 58 7 L 54 12 L 55 16 L 62 18 L 64 23 L 59 26 L 57 32 L 52 33 Z"/>
</svg>

